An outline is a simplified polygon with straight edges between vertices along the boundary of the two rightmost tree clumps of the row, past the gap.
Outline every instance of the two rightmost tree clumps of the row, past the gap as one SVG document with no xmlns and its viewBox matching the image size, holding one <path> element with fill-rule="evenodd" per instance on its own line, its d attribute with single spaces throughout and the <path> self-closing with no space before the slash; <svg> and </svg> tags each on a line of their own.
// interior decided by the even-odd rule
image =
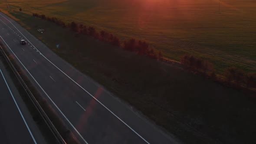
<svg viewBox="0 0 256 144">
<path fill-rule="evenodd" d="M 206 60 L 185 54 L 181 57 L 181 64 L 190 69 L 210 75 L 213 79 L 217 78 L 214 72 L 214 65 Z M 256 87 L 256 73 L 246 73 L 241 69 L 237 69 L 236 67 L 230 67 L 225 70 L 223 76 L 229 85 L 244 85 L 246 88 Z"/>
</svg>

